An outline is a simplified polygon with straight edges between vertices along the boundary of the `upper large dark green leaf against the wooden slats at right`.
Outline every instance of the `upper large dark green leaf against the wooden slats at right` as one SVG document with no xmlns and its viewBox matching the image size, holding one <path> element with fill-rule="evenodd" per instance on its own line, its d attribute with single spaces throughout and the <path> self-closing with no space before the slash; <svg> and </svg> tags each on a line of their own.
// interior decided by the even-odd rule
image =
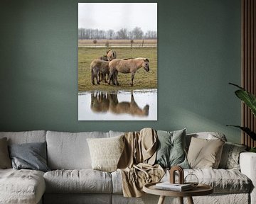
<svg viewBox="0 0 256 204">
<path fill-rule="evenodd" d="M 239 88 L 239 90 L 235 91 L 235 95 L 238 96 L 238 98 L 240 98 L 245 103 L 245 105 L 250 108 L 253 115 L 255 115 L 256 117 L 256 96 L 253 94 L 250 94 L 245 89 L 243 89 L 242 87 L 236 84 L 231 84 L 231 85 L 237 86 Z"/>
</svg>

